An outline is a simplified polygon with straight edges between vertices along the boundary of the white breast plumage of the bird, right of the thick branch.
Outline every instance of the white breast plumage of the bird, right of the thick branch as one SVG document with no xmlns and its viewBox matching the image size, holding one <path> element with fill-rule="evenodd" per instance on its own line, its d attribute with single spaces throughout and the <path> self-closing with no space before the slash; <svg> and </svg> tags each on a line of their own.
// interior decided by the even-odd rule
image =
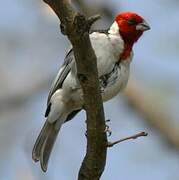
<svg viewBox="0 0 179 180">
<path fill-rule="evenodd" d="M 113 23 L 109 32 L 110 34 L 108 35 L 98 32 L 90 35 L 91 43 L 97 56 L 99 77 L 112 71 L 114 64 L 119 61 L 120 54 L 124 49 L 124 42 L 119 31 L 116 30 L 115 23 Z M 120 63 L 117 70 L 117 78 L 111 77 L 111 79 L 114 78 L 114 82 L 102 90 L 103 101 L 113 98 L 126 86 L 131 59 L 132 54 L 128 59 Z"/>
</svg>

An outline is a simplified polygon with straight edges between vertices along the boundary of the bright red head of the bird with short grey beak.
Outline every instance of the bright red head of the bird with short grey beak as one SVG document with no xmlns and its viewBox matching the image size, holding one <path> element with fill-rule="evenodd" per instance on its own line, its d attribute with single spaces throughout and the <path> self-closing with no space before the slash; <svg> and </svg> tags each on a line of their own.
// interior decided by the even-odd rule
<svg viewBox="0 0 179 180">
<path fill-rule="evenodd" d="M 115 19 L 119 27 L 120 35 L 124 42 L 133 45 L 144 31 L 149 30 L 149 25 L 136 13 L 123 12 L 117 15 Z"/>
</svg>

